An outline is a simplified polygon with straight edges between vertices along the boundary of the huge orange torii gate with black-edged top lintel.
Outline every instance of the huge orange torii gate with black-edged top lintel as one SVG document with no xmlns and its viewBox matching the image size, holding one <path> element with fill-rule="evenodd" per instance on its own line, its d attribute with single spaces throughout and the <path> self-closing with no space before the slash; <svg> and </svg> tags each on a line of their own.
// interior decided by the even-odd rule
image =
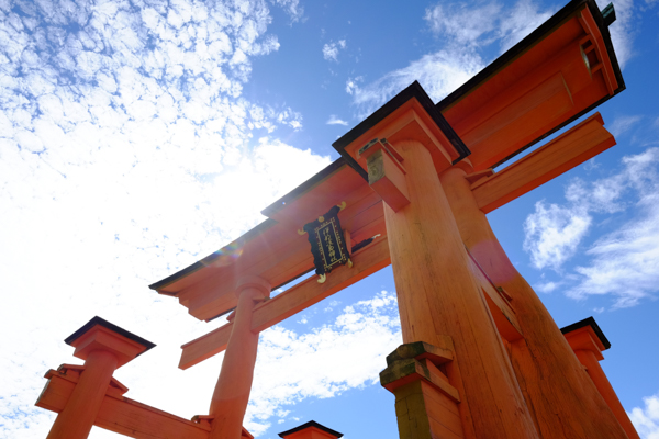
<svg viewBox="0 0 659 439">
<path fill-rule="evenodd" d="M 181 369 L 226 350 L 209 438 L 246 435 L 259 331 L 390 263 L 404 345 L 381 383 L 402 438 L 638 438 L 596 370 L 596 325 L 570 335 L 591 379 L 485 217 L 615 144 L 595 113 L 493 170 L 624 90 L 614 20 L 612 5 L 573 0 L 439 103 L 414 82 L 335 142 L 342 158 L 266 207 L 268 219 L 150 285 L 202 320 L 233 311 L 182 347 Z M 353 267 L 269 299 L 313 269 L 298 230 L 334 205 Z"/>
</svg>

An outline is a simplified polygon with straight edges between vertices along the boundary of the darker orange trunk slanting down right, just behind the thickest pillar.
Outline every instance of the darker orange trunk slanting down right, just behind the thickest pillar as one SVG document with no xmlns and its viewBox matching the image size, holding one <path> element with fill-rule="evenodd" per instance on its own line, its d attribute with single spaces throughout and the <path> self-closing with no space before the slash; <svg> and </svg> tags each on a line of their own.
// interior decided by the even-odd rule
<svg viewBox="0 0 659 439">
<path fill-rule="evenodd" d="M 478 209 L 466 172 L 448 169 L 442 184 L 465 246 L 494 284 L 513 299 L 524 338 L 512 344 L 511 359 L 541 437 L 627 438 L 551 315 L 503 251 Z"/>
</svg>

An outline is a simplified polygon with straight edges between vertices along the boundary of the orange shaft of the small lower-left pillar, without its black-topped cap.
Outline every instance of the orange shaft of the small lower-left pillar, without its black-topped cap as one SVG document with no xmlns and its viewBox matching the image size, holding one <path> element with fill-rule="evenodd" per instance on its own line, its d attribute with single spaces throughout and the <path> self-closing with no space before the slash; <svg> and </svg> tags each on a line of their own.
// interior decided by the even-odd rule
<svg viewBox="0 0 659 439">
<path fill-rule="evenodd" d="M 89 352 L 85 371 L 68 403 L 57 415 L 47 439 L 86 439 L 89 436 L 118 363 L 116 356 L 107 350 Z"/>
</svg>

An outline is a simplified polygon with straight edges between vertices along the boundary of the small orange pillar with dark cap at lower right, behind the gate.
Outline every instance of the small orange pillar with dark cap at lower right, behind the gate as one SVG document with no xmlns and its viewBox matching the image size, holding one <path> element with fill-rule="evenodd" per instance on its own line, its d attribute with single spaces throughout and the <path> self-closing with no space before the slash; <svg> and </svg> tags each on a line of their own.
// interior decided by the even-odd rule
<svg viewBox="0 0 659 439">
<path fill-rule="evenodd" d="M 588 375 L 595 383 L 595 387 L 602 394 L 604 402 L 606 402 L 615 418 L 621 423 L 629 439 L 639 439 L 634 424 L 629 420 L 627 412 L 625 412 L 606 374 L 602 370 L 602 365 L 600 365 L 600 361 L 604 359 L 602 351 L 611 348 L 611 344 L 604 337 L 595 319 L 589 317 L 566 326 L 560 330 L 566 336 L 577 358 L 585 368 Z"/>
</svg>

